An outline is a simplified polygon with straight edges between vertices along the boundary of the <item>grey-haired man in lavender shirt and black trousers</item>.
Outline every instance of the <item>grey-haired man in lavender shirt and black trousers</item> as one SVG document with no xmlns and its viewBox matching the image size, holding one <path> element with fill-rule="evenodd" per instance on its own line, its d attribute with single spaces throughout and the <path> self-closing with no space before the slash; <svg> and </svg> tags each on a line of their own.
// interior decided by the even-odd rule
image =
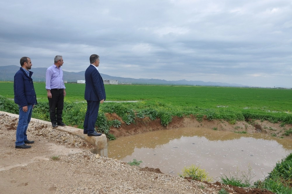
<svg viewBox="0 0 292 194">
<path fill-rule="evenodd" d="M 54 65 L 48 67 L 46 71 L 46 90 L 49 100 L 50 119 L 53 127 L 66 126 L 62 120 L 64 108 L 64 96 L 66 96 L 63 71 L 63 57 L 55 56 Z"/>
</svg>

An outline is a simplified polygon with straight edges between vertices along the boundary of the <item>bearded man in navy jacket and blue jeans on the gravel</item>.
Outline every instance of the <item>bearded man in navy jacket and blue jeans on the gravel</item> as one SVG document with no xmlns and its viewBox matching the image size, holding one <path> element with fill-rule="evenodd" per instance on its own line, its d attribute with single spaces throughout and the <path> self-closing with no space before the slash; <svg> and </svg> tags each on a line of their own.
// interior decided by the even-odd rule
<svg viewBox="0 0 292 194">
<path fill-rule="evenodd" d="M 32 109 L 36 105 L 36 92 L 32 82 L 32 62 L 28 57 L 20 59 L 20 70 L 14 75 L 14 102 L 19 107 L 18 126 L 16 128 L 15 148 L 31 148 L 26 143 L 34 143 L 27 139 L 26 131 L 32 117 Z"/>
</svg>

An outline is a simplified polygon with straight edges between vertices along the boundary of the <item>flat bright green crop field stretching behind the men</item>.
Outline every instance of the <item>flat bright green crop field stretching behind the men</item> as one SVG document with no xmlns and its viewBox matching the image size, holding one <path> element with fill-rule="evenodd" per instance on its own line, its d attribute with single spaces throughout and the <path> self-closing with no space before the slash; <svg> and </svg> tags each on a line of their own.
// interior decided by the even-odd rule
<svg viewBox="0 0 292 194">
<path fill-rule="evenodd" d="M 47 101 L 44 83 L 35 83 L 38 101 Z M 66 84 L 65 99 L 84 101 L 85 84 Z M 200 108 L 292 111 L 292 90 L 265 88 L 105 85 L 107 101 L 162 101 Z M 0 95 L 13 99 L 13 83 L 0 82 Z"/>
</svg>

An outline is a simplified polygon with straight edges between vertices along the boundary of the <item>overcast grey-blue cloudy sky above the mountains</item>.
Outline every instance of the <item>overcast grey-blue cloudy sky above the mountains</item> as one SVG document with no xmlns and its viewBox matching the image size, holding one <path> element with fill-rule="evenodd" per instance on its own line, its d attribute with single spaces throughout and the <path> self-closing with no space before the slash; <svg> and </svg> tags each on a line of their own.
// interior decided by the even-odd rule
<svg viewBox="0 0 292 194">
<path fill-rule="evenodd" d="M 0 66 L 292 87 L 291 0 L 0 1 Z"/>
</svg>

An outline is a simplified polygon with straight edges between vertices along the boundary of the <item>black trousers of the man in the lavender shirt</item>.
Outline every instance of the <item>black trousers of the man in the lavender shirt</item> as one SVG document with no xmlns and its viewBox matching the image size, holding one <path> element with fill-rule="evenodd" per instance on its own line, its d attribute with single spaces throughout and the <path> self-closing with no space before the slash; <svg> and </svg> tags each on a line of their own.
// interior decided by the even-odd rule
<svg viewBox="0 0 292 194">
<path fill-rule="evenodd" d="M 64 90 L 51 89 L 51 94 L 52 98 L 48 98 L 51 122 L 62 123 L 62 113 L 64 108 Z"/>
</svg>

